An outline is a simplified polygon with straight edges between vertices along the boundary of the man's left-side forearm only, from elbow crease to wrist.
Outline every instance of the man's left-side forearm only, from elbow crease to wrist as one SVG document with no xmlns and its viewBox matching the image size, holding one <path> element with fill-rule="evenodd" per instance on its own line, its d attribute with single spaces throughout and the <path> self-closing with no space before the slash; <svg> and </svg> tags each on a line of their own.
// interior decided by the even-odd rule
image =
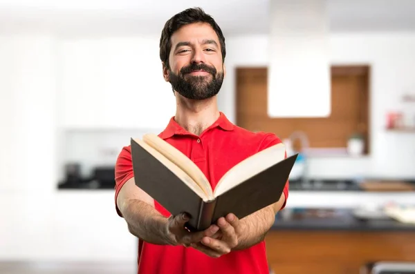
<svg viewBox="0 0 415 274">
<path fill-rule="evenodd" d="M 167 218 L 146 202 L 130 200 L 122 215 L 131 234 L 151 244 L 169 244 Z"/>
</svg>

